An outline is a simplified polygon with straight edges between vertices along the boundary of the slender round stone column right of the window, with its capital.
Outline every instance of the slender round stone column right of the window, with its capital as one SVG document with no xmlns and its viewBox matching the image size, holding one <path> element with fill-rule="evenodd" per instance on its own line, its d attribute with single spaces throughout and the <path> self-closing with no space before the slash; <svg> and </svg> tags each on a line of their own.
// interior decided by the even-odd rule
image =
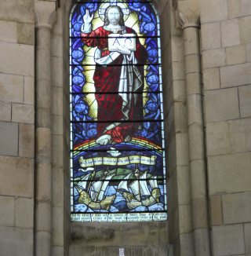
<svg viewBox="0 0 251 256">
<path fill-rule="evenodd" d="M 195 255 L 207 256 L 211 254 L 211 250 L 203 130 L 202 74 L 199 43 L 199 2 L 199 0 L 179 1 L 176 9 L 176 17 L 184 32 L 187 126 Z"/>
</svg>

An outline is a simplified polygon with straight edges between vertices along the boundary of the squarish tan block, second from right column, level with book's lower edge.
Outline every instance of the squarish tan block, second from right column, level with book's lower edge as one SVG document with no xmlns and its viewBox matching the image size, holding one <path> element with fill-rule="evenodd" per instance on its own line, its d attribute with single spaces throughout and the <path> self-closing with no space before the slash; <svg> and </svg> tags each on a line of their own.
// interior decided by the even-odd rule
<svg viewBox="0 0 251 256">
<path fill-rule="evenodd" d="M 246 46 L 227 47 L 227 65 L 242 64 L 246 62 Z"/>
</svg>

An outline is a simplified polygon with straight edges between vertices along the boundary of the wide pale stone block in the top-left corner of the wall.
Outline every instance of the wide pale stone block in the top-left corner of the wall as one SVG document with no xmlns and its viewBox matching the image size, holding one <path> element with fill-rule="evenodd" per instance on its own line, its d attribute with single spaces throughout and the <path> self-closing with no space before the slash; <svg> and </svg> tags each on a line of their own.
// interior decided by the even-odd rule
<svg viewBox="0 0 251 256">
<path fill-rule="evenodd" d="M 0 2 L 0 20 L 34 23 L 34 1 L 12 0 Z"/>
</svg>

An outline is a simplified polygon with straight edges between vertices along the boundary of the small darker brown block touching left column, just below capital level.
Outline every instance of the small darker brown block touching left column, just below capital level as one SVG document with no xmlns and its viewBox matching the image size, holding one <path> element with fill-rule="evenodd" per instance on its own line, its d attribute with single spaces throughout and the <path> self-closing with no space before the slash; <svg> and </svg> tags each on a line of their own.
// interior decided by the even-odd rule
<svg viewBox="0 0 251 256">
<path fill-rule="evenodd" d="M 35 25 L 28 23 L 18 23 L 17 42 L 33 46 L 35 44 Z"/>
</svg>

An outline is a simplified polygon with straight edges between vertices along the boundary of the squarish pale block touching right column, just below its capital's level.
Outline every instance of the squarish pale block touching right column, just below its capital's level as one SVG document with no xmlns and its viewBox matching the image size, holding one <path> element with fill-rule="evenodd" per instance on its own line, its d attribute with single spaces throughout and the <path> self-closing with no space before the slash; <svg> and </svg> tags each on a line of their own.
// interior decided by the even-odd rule
<svg viewBox="0 0 251 256">
<path fill-rule="evenodd" d="M 220 22 L 202 24 L 202 49 L 216 49 L 220 46 Z"/>
</svg>

